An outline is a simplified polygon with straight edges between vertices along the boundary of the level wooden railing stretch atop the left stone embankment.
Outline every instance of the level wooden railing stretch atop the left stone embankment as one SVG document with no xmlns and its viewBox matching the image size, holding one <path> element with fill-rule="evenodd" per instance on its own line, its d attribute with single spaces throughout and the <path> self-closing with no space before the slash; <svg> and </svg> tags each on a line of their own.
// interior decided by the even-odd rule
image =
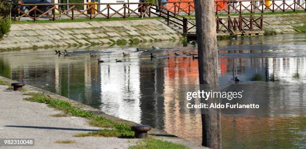
<svg viewBox="0 0 306 149">
<path fill-rule="evenodd" d="M 128 7 L 128 5 L 136 4 L 136 8 L 133 9 Z M 52 20 L 58 19 L 61 16 L 66 16 L 67 18 L 74 19 L 76 17 L 88 17 L 95 18 L 98 15 L 101 17 L 111 18 L 114 15 L 119 17 L 129 17 L 130 15 L 135 15 L 139 17 L 144 17 L 147 14 L 150 17 L 150 3 L 149 2 L 129 2 L 129 3 L 69 3 L 68 9 L 61 10 L 58 6 L 67 4 L 64 3 L 43 3 L 43 4 L 23 4 L 23 6 L 31 7 L 27 12 L 23 12 L 20 8 L 15 11 L 19 12 L 19 16 L 15 16 L 16 20 L 27 16 L 32 20 L 36 21 L 42 17 L 49 18 Z M 99 5 L 101 10 L 97 10 L 94 5 Z M 39 6 L 49 6 L 50 8 L 43 11 L 39 9 Z M 79 9 L 79 6 L 86 6 L 85 9 Z M 116 7 L 116 8 L 115 8 Z M 89 14 L 87 13 L 89 11 Z M 40 13 L 40 14 L 37 14 Z M 16 14 L 16 13 L 15 13 Z"/>
</svg>

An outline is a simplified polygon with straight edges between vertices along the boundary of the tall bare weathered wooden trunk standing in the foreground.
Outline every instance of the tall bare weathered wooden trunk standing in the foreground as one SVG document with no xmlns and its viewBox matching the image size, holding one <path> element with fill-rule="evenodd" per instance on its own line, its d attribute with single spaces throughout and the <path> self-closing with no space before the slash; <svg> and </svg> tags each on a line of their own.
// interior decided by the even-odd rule
<svg viewBox="0 0 306 149">
<path fill-rule="evenodd" d="M 200 89 L 218 91 L 217 43 L 213 0 L 194 0 Z M 219 103 L 219 99 L 201 101 Z M 202 146 L 221 149 L 220 109 L 202 110 Z"/>
</svg>

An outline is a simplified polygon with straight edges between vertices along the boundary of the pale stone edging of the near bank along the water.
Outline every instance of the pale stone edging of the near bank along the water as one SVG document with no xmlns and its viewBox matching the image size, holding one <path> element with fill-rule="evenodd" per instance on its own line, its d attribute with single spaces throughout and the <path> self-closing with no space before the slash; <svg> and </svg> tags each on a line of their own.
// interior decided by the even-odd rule
<svg viewBox="0 0 306 149">
<path fill-rule="evenodd" d="M 0 76 L 0 81 L 6 81 L 6 82 L 9 82 L 9 83 L 16 82 L 15 80 L 11 80 L 11 79 L 8 79 L 8 78 L 2 77 L 2 76 Z M 123 124 L 127 124 L 127 125 L 130 125 L 130 126 L 137 124 L 137 123 L 134 123 L 134 122 L 131 122 L 131 121 L 123 120 L 123 119 L 105 114 L 101 110 L 95 109 L 93 107 L 81 104 L 81 103 L 76 102 L 74 100 L 71 100 L 69 98 L 60 96 L 60 95 L 55 94 L 55 93 L 51 93 L 49 91 L 31 86 L 31 85 L 25 85 L 23 88 L 26 89 L 26 91 L 24 93 L 40 93 L 40 94 L 43 94 L 43 95 L 48 95 L 51 98 L 55 98 L 55 99 L 59 99 L 61 101 L 68 102 L 75 108 L 79 108 L 81 110 L 91 112 L 91 113 L 93 113 L 95 115 L 98 115 L 98 116 L 102 116 L 102 117 L 104 117 L 104 118 L 106 118 L 110 121 L 116 122 L 116 123 L 123 123 Z M 196 145 L 195 143 L 192 143 L 192 142 L 187 141 L 185 139 L 179 138 L 177 136 L 168 134 L 168 133 L 164 132 L 163 130 L 159 130 L 159 129 L 155 129 L 155 128 L 153 128 L 151 131 L 149 131 L 148 134 L 154 136 L 154 139 L 169 141 L 169 142 L 174 143 L 174 144 L 183 145 L 183 146 L 185 146 L 187 148 L 190 148 L 190 149 L 209 149 L 209 148 L 206 148 L 206 147 Z"/>
</svg>

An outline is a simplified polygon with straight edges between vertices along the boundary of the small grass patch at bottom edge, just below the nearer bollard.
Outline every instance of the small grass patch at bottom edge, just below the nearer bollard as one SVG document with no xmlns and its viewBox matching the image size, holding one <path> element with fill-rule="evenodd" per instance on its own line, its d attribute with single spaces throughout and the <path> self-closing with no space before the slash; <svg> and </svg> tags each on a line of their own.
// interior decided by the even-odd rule
<svg viewBox="0 0 306 149">
<path fill-rule="evenodd" d="M 137 145 L 129 147 L 129 149 L 188 149 L 185 146 L 173 144 L 167 141 L 157 139 L 143 139 L 137 142 Z"/>
</svg>

